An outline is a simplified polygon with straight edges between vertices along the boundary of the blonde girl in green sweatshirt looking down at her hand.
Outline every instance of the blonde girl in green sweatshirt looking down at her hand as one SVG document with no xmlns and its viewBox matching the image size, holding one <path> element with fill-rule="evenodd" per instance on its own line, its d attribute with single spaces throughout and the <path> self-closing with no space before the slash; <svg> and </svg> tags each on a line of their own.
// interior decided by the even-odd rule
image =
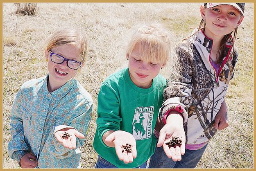
<svg viewBox="0 0 256 171">
<path fill-rule="evenodd" d="M 98 94 L 95 168 L 146 168 L 167 83 L 159 71 L 170 51 L 170 32 L 159 23 L 133 28 L 128 67 L 110 75 Z"/>
</svg>

